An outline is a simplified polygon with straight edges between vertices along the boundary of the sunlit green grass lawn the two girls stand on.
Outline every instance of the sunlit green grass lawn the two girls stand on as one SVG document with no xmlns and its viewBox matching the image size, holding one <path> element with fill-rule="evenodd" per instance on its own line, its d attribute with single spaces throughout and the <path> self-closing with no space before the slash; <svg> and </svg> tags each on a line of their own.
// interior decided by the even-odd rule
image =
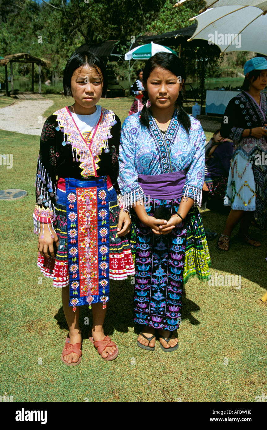
<svg viewBox="0 0 267 430">
<path fill-rule="evenodd" d="M 49 98 L 52 98 L 49 96 Z M 66 105 L 60 96 L 43 116 Z M 132 99 L 102 99 L 123 120 Z M 207 136 L 207 138 L 209 138 Z M 251 227 L 259 249 L 240 244 L 233 232 L 229 252 L 209 242 L 211 273 L 242 276 L 242 287 L 209 286 L 191 279 L 184 287 L 179 348 L 164 353 L 136 344 L 132 319 L 133 286 L 111 282 L 105 331 L 119 356 L 106 362 L 87 339 L 91 312 L 82 307 L 83 358 L 78 366 L 61 361 L 67 324 L 61 292 L 37 268 L 33 234 L 34 180 L 38 136 L 0 131 L 1 154 L 13 154 L 13 168 L 1 169 L 1 188 L 22 188 L 28 196 L 0 202 L 2 264 L 0 394 L 13 402 L 255 402 L 267 393 L 266 232 Z M 225 211 L 202 213 L 218 233 Z M 89 325 L 85 317 L 89 316 Z"/>
</svg>

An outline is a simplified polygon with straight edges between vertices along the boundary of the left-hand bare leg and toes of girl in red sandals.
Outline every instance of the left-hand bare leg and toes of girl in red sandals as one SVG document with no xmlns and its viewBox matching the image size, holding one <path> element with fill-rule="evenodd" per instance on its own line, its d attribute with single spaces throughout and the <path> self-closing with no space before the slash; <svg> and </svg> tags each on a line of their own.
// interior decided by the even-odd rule
<svg viewBox="0 0 267 430">
<path fill-rule="evenodd" d="M 76 312 L 74 312 L 72 310 L 72 307 L 69 306 L 70 292 L 68 287 L 63 287 L 61 289 L 61 297 L 62 297 L 62 304 L 63 304 L 65 318 L 69 327 L 70 344 L 80 343 L 82 341 L 82 336 L 81 336 L 81 331 L 79 327 L 79 316 L 80 316 L 79 306 L 77 306 Z M 71 362 L 76 363 L 79 360 L 79 356 L 75 353 L 70 353 L 68 355 L 65 355 L 63 359 L 68 363 L 71 363 Z"/>
</svg>

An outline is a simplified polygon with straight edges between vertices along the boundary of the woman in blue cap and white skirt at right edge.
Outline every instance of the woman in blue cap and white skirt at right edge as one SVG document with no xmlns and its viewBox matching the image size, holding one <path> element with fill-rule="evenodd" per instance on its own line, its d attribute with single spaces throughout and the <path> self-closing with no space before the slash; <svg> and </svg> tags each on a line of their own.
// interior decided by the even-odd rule
<svg viewBox="0 0 267 430">
<path fill-rule="evenodd" d="M 262 92 L 267 85 L 267 60 L 255 57 L 247 61 L 244 74 L 243 91 L 229 101 L 221 124 L 221 135 L 233 140 L 224 199 L 232 210 L 217 244 L 223 251 L 228 251 L 239 220 L 239 238 L 252 246 L 261 246 L 248 234 L 253 215 L 260 228 L 267 227 L 267 95 Z"/>
</svg>

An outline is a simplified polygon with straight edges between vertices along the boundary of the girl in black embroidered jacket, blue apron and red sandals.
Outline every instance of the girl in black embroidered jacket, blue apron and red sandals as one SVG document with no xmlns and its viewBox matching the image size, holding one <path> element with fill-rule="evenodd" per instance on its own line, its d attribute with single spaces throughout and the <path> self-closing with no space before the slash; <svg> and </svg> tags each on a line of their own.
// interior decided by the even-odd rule
<svg viewBox="0 0 267 430">
<path fill-rule="evenodd" d="M 53 286 L 62 287 L 69 335 L 61 359 L 77 365 L 82 356 L 82 304 L 92 308 L 90 340 L 98 353 L 105 360 L 117 357 L 116 344 L 103 332 L 109 279 L 126 279 L 134 274 L 134 266 L 124 239 L 131 221 L 117 204 L 120 120 L 96 106 L 107 90 L 104 64 L 91 52 L 74 53 L 63 84 L 74 104 L 44 123 L 34 223 L 38 266 L 53 278 Z"/>
</svg>

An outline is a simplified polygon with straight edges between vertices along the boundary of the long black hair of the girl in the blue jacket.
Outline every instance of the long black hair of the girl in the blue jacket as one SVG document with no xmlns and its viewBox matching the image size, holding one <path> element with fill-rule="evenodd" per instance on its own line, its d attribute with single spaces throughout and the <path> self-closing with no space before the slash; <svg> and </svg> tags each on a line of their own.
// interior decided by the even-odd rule
<svg viewBox="0 0 267 430">
<path fill-rule="evenodd" d="M 186 79 L 184 64 L 182 63 L 181 59 L 175 55 L 171 54 L 169 52 L 157 52 L 157 54 L 153 55 L 153 57 L 150 57 L 149 60 L 147 60 L 147 64 L 144 67 L 143 71 L 143 85 L 147 83 L 147 79 L 150 75 L 150 73 L 155 69 L 156 67 L 161 67 L 163 69 L 169 70 L 172 72 L 175 76 L 181 77 L 181 81 Z M 191 126 L 191 121 L 189 115 L 184 111 L 182 108 L 183 104 L 183 95 L 182 92 L 179 92 L 178 98 L 175 102 L 175 105 L 177 105 L 177 119 L 181 123 L 181 125 L 186 130 L 187 134 L 189 133 L 189 129 Z M 147 127 L 149 129 L 149 121 L 150 121 L 150 111 L 146 107 L 146 102 L 148 100 L 148 94 L 147 91 L 144 91 L 144 97 L 142 99 L 144 103 L 144 107 L 141 110 L 141 117 L 140 117 L 140 123 Z"/>
</svg>

